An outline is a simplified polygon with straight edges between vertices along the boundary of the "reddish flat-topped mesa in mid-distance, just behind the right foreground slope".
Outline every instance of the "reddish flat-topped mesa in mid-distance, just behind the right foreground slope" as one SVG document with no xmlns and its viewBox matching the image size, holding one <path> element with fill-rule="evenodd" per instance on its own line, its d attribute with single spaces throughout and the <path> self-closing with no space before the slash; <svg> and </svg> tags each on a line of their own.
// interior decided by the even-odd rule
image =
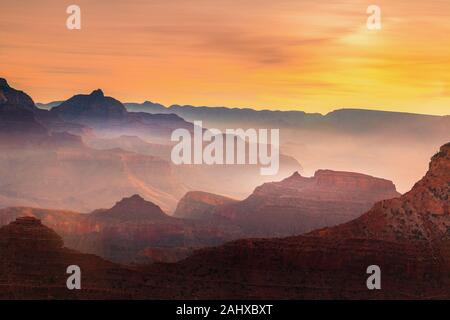
<svg viewBox="0 0 450 320">
<path fill-rule="evenodd" d="M 377 201 L 400 194 L 389 180 L 319 170 L 311 178 L 296 172 L 280 182 L 265 183 L 239 202 L 200 195 L 186 195 L 175 214 L 195 219 L 225 218 L 249 236 L 274 237 L 350 221 Z"/>
</svg>

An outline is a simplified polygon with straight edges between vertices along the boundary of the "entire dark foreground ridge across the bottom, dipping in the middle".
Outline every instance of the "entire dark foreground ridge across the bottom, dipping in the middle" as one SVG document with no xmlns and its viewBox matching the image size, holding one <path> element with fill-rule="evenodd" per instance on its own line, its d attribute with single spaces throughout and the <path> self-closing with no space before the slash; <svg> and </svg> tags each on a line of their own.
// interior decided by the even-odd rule
<svg viewBox="0 0 450 320">
<path fill-rule="evenodd" d="M 280 239 L 243 239 L 177 263 L 124 267 L 63 247 L 33 217 L 0 228 L 2 298 L 436 299 L 450 297 L 450 143 L 405 195 L 340 226 Z M 135 199 L 137 200 L 137 199 Z M 119 205 L 120 207 L 120 205 Z M 157 218 L 159 210 L 151 206 Z M 39 241 L 36 241 L 36 240 Z M 84 289 L 63 288 L 79 264 Z M 382 289 L 368 290 L 379 265 Z M 5 275 L 8 275 L 7 277 Z"/>
</svg>

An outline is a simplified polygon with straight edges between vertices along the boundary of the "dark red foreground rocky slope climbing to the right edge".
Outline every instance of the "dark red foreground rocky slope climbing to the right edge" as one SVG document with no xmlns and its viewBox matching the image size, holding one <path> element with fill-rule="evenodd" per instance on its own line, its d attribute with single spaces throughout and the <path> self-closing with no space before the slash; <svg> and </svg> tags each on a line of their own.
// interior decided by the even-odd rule
<svg viewBox="0 0 450 320">
<path fill-rule="evenodd" d="M 447 144 L 409 193 L 352 222 L 291 238 L 240 240 L 149 270 L 201 278 L 186 282 L 196 298 L 448 298 L 449 166 Z M 370 265 L 381 268 L 381 290 L 366 287 Z"/>
</svg>

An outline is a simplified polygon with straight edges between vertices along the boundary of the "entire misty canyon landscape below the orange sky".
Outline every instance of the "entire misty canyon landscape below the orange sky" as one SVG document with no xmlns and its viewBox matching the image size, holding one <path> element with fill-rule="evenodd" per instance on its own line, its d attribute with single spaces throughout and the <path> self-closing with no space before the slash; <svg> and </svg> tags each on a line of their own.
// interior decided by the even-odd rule
<svg viewBox="0 0 450 320">
<path fill-rule="evenodd" d="M 450 144 L 403 195 L 379 178 L 424 172 L 419 162 L 448 142 L 448 117 L 210 109 L 169 111 L 282 127 L 279 174 L 173 166 L 170 132 L 194 130 L 189 119 L 131 112 L 100 89 L 40 109 L 0 79 L 0 297 L 450 297 Z M 365 159 L 391 167 L 363 170 Z M 65 287 L 69 265 L 82 290 Z M 367 290 L 369 265 L 381 290 Z"/>
</svg>

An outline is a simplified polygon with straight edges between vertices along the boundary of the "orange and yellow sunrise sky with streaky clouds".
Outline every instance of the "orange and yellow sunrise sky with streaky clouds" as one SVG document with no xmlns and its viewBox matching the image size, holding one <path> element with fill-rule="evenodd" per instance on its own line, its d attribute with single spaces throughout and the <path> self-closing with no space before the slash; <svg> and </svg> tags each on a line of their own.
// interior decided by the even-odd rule
<svg viewBox="0 0 450 320">
<path fill-rule="evenodd" d="M 81 8 L 81 30 L 66 9 Z M 381 9 L 368 30 L 367 7 Z M 0 0 L 0 77 L 35 101 L 450 114 L 448 0 Z"/>
</svg>

